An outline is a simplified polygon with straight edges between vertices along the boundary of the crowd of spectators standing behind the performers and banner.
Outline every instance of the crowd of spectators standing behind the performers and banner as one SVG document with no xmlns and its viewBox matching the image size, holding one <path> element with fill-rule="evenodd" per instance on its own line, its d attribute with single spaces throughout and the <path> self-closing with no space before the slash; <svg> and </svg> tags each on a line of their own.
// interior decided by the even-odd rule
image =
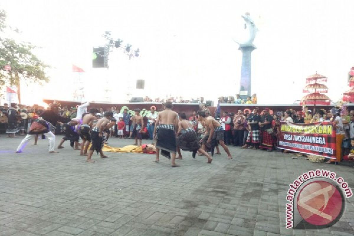
<svg viewBox="0 0 354 236">
<path fill-rule="evenodd" d="M 348 111 L 341 112 L 341 109 L 334 107 L 327 111 L 324 109 L 319 109 L 315 112 L 315 114 L 313 114 L 311 110 L 304 107 L 302 111 L 290 109 L 286 111 L 276 111 L 274 114 L 269 114 L 269 109 L 264 109 L 263 111 L 255 109 L 251 113 L 249 113 L 247 109 L 245 110 L 245 113 L 243 113 L 242 110 L 239 110 L 236 114 L 224 111 L 220 114 L 219 104 L 233 102 L 240 102 L 239 97 L 236 96 L 235 100 L 233 97 L 228 97 L 227 99 L 225 99 L 225 97 L 219 97 L 215 114 L 211 114 L 209 108 L 204 102 L 204 98 L 201 97 L 198 100 L 199 110 L 205 111 L 207 114 L 212 115 L 218 122 L 221 123 L 224 129 L 224 143 L 226 145 L 242 146 L 244 148 L 253 149 L 264 148 L 264 145 L 262 145 L 264 140 L 262 140 L 262 138 L 264 139 L 264 134 L 267 132 L 271 136 L 271 141 L 269 141 L 270 139 L 267 140 L 270 146 L 268 145 L 264 149 L 272 151 L 276 150 L 278 146 L 280 121 L 292 123 L 331 121 L 335 123 L 336 127 L 336 148 L 338 155 L 348 154 L 350 151 L 347 149 L 342 153 L 342 148 L 344 146 L 350 146 L 344 145 L 344 142 L 350 143 L 350 139 L 354 139 L 354 110 L 350 111 L 350 113 Z M 257 102 L 256 96 L 253 96 L 252 102 Z M 13 114 L 13 111 L 15 111 L 15 115 Z M 44 107 L 36 104 L 33 106 L 26 106 L 23 104 L 11 103 L 9 107 L 8 104 L 5 103 L 3 106 L 0 106 L 0 133 L 6 132 L 10 138 L 15 137 L 16 134 L 24 135 L 27 133 L 31 125 L 32 117 L 40 116 L 44 111 Z M 129 114 L 127 109 L 125 109 L 123 113 L 120 113 L 121 108 L 116 107 L 110 108 L 109 111 L 112 111 L 114 117 L 112 121 L 115 122 L 114 126 L 109 131 L 106 131 L 109 133 L 109 136 L 134 138 L 136 135 L 136 132 L 134 132 L 136 127 L 135 115 Z M 136 114 L 139 112 L 139 109 L 135 109 Z M 203 127 L 202 123 L 198 121 L 197 112 L 197 110 L 193 112 L 193 115 L 190 116 L 189 121 L 192 123 L 195 131 L 202 136 L 205 132 L 205 127 Z M 97 118 L 102 117 L 104 113 L 105 110 L 103 108 L 97 108 Z M 59 104 L 58 115 L 68 119 L 74 119 L 75 117 L 77 118 L 77 108 L 60 107 Z M 143 117 L 144 125 L 142 126 L 142 131 L 139 132 L 141 133 L 142 138 L 153 139 L 152 133 L 156 118 L 156 107 L 152 106 L 150 108 L 150 112 Z M 254 131 L 257 131 L 257 133 L 254 133 Z M 250 135 L 250 132 L 253 132 L 253 136 L 258 136 L 257 142 L 252 142 L 252 135 Z M 55 134 L 61 133 L 62 128 L 60 125 L 57 125 Z M 286 153 L 288 151 L 284 152 Z M 341 157 L 338 157 L 337 160 L 341 160 Z"/>
</svg>

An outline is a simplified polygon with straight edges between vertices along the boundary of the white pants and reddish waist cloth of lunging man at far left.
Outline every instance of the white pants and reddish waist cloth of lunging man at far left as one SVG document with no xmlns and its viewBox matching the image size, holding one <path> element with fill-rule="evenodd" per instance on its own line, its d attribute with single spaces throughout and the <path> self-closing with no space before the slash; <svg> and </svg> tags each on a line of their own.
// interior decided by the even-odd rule
<svg viewBox="0 0 354 236">
<path fill-rule="evenodd" d="M 59 153 L 54 150 L 55 135 L 50 131 L 50 123 L 43 120 L 41 117 L 33 121 L 33 127 L 28 132 L 27 136 L 22 139 L 20 145 L 18 145 L 16 152 L 22 152 L 27 145 L 28 141 L 36 136 L 36 134 L 44 134 L 49 140 L 49 153 Z"/>
</svg>

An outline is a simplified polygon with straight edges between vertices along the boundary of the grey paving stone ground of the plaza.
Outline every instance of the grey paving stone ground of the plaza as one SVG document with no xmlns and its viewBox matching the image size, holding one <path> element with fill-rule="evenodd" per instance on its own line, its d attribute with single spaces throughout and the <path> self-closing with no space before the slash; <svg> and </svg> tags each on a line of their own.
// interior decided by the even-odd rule
<svg viewBox="0 0 354 236">
<path fill-rule="evenodd" d="M 182 152 L 179 168 L 165 157 L 106 152 L 95 163 L 70 148 L 48 154 L 47 140 L 30 143 L 0 137 L 1 236 L 272 236 L 353 235 L 354 197 L 341 220 L 321 230 L 285 229 L 289 184 L 312 169 L 328 169 L 354 188 L 354 168 L 292 159 L 291 154 L 230 146 L 206 158 Z M 59 143 L 58 136 L 56 143 Z M 33 142 L 33 141 L 32 141 Z M 110 146 L 132 144 L 111 138 Z M 143 140 L 148 143 L 148 140 Z"/>
</svg>

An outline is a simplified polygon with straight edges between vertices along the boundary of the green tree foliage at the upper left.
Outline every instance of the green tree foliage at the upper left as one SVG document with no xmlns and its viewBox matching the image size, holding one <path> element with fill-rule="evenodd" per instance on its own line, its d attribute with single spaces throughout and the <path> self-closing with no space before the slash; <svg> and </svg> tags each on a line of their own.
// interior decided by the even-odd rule
<svg viewBox="0 0 354 236">
<path fill-rule="evenodd" d="M 45 69 L 49 66 L 38 59 L 32 50 L 36 48 L 28 42 L 17 42 L 14 39 L 3 37 L 6 30 L 13 30 L 6 24 L 6 12 L 0 10 L 0 86 L 18 85 L 20 79 L 27 82 L 48 82 Z M 11 70 L 5 70 L 10 65 Z"/>
</svg>

